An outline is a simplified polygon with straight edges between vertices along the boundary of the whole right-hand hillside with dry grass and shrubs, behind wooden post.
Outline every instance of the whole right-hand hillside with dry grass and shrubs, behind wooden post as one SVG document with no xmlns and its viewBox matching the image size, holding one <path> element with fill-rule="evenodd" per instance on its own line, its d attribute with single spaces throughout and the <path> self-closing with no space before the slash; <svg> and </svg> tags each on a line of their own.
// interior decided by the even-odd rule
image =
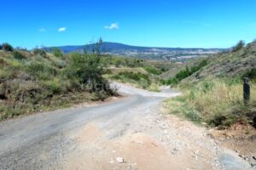
<svg viewBox="0 0 256 170">
<path fill-rule="evenodd" d="M 171 113 L 211 127 L 230 127 L 236 122 L 256 127 L 256 42 L 191 61 L 170 75 L 161 82 L 183 91 L 183 96 L 166 101 Z M 247 105 L 243 103 L 243 77 L 251 80 Z"/>
</svg>

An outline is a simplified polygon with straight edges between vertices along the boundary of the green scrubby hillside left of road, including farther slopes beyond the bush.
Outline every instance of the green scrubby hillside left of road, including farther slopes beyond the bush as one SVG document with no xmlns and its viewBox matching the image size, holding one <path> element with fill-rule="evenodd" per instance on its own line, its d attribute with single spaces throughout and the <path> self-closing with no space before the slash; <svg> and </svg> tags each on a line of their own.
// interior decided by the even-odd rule
<svg viewBox="0 0 256 170">
<path fill-rule="evenodd" d="M 0 50 L 0 120 L 116 95 L 108 79 L 158 91 L 158 76 L 172 62 L 100 54 Z"/>
</svg>

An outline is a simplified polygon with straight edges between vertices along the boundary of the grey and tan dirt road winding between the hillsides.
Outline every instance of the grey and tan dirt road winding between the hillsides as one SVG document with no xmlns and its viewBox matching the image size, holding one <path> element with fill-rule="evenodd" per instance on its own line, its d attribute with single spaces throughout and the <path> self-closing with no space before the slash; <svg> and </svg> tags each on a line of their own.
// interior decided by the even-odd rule
<svg viewBox="0 0 256 170">
<path fill-rule="evenodd" d="M 206 129 L 161 114 L 177 92 L 115 86 L 125 98 L 0 122 L 0 169 L 251 169 Z"/>
</svg>

